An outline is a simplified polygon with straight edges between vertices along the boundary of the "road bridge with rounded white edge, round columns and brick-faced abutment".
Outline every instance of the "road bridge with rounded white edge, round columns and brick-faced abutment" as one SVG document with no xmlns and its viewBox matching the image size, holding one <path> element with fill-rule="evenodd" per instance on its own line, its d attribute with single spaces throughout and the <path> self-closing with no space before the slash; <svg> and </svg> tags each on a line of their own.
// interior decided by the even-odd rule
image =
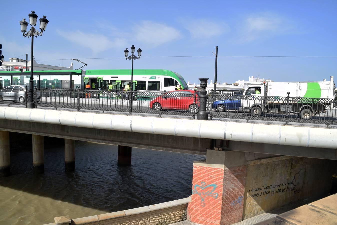
<svg viewBox="0 0 337 225">
<path fill-rule="evenodd" d="M 198 224 L 233 224 L 327 194 L 336 170 L 337 129 L 303 124 L 0 107 L 0 130 L 2 175 L 10 174 L 8 132 L 32 134 L 36 173 L 44 171 L 43 136 L 65 140 L 66 170 L 75 169 L 74 140 L 118 145 L 119 165 L 131 164 L 132 147 L 206 155 L 193 163 L 187 205 Z"/>
</svg>

